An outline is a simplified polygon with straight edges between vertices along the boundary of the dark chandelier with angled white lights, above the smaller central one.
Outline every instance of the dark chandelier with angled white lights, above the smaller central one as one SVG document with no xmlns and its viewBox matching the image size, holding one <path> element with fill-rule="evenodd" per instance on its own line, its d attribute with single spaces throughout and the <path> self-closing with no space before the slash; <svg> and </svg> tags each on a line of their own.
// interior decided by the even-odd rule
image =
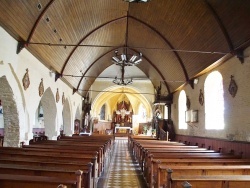
<svg viewBox="0 0 250 188">
<path fill-rule="evenodd" d="M 136 66 L 142 61 L 142 53 L 138 55 L 127 55 L 127 54 L 118 54 L 118 50 L 115 50 L 115 56 L 112 57 L 112 62 L 120 66 Z"/>
</svg>

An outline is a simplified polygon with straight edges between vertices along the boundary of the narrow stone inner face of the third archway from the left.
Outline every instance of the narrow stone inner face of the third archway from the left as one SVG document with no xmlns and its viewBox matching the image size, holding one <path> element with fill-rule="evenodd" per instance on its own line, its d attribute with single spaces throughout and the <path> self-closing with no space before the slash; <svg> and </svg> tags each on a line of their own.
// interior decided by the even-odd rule
<svg viewBox="0 0 250 188">
<path fill-rule="evenodd" d="M 63 130 L 64 134 L 70 135 L 72 134 L 72 120 L 71 120 L 71 111 L 69 106 L 68 99 L 65 100 L 65 103 L 63 105 Z"/>
</svg>

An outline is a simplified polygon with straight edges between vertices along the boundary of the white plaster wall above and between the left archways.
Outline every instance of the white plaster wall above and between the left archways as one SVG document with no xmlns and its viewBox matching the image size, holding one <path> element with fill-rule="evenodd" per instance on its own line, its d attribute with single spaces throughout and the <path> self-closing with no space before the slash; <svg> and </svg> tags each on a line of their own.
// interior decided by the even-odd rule
<svg viewBox="0 0 250 188">
<path fill-rule="evenodd" d="M 57 119 L 55 122 L 55 132 L 59 134 L 63 109 L 61 102 L 62 93 L 64 92 L 65 98 L 70 103 L 71 119 L 74 119 L 76 108 L 81 105 L 81 96 L 78 94 L 72 95 L 72 89 L 60 79 L 55 82 L 54 77 L 50 76 L 50 70 L 26 49 L 16 54 L 17 41 L 2 28 L 0 28 L 0 41 L 0 77 L 3 75 L 7 77 L 14 93 L 19 113 L 20 141 L 27 142 L 33 136 L 32 127 L 35 124 L 36 110 L 41 99 L 38 94 L 41 78 L 43 78 L 44 90 L 50 87 L 55 95 L 57 88 L 59 88 L 60 101 L 56 103 Z M 25 91 L 22 86 L 22 78 L 26 68 L 29 69 L 30 86 Z M 71 127 L 73 127 L 73 122 Z M 54 138 L 56 136 L 54 135 Z"/>
</svg>

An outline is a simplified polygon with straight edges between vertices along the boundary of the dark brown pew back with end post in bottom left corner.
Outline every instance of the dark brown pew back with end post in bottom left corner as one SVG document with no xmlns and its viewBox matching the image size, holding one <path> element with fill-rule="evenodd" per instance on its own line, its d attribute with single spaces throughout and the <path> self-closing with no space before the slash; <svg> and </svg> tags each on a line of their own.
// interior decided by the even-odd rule
<svg viewBox="0 0 250 188">
<path fill-rule="evenodd" d="M 58 177 L 47 176 L 28 176 L 28 175 L 10 175 L 0 174 L 1 188 L 56 188 L 63 184 L 67 188 L 81 188 L 81 171 L 76 172 L 75 180 L 66 180 Z"/>
</svg>

